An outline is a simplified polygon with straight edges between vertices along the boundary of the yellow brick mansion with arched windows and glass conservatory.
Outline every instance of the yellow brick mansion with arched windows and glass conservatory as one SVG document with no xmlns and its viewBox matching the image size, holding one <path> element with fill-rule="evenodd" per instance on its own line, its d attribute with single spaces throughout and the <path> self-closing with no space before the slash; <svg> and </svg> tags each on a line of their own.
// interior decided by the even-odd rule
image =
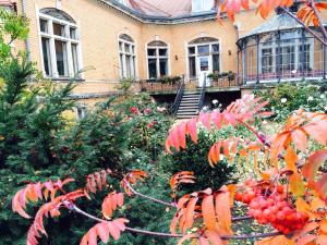
<svg viewBox="0 0 327 245">
<path fill-rule="evenodd" d="M 214 0 L 1 2 L 16 4 L 31 20 L 22 48 L 45 77 L 66 83 L 87 70 L 77 75 L 73 95 L 86 105 L 116 93 L 123 77 L 137 82 L 136 91 L 175 100 L 177 109 L 183 93 L 192 90 L 185 96 L 192 114 L 205 97 L 228 101 L 257 84 L 326 76 L 326 51 L 315 38 L 286 14 L 263 20 L 255 7 L 219 25 Z M 225 75 L 205 79 L 209 73 Z M 167 76 L 182 77 L 184 87 L 156 82 Z"/>
</svg>

